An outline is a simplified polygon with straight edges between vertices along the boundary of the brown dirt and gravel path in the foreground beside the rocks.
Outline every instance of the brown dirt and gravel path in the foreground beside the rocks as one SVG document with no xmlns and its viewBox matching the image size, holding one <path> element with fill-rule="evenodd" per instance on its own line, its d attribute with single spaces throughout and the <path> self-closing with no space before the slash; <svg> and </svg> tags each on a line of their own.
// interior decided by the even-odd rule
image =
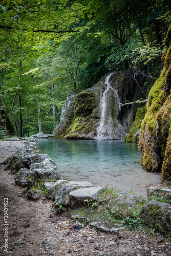
<svg viewBox="0 0 171 256">
<path fill-rule="evenodd" d="M 0 141 L 0 163 L 12 155 L 25 141 Z M 75 229 L 67 213 L 56 214 L 52 201 L 41 198 L 28 201 L 20 197 L 24 190 L 14 183 L 10 170 L 0 165 L 1 237 L 0 255 L 171 255 L 171 244 L 160 236 L 151 237 L 145 231 L 115 234 L 89 226 Z M 8 198 L 8 223 L 4 222 L 4 199 Z M 9 225 L 7 225 L 9 224 Z M 4 229 L 4 227 L 8 227 Z M 8 232 L 8 252 L 4 251 Z"/>
</svg>

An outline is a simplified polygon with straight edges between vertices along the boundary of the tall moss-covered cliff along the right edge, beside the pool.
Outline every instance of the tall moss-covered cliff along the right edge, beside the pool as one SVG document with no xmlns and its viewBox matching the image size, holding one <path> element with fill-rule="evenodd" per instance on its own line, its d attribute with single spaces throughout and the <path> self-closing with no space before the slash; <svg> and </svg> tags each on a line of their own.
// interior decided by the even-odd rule
<svg viewBox="0 0 171 256">
<path fill-rule="evenodd" d="M 162 171 L 163 180 L 171 179 L 171 25 L 164 44 L 164 68 L 149 92 L 138 145 L 141 165 L 151 172 Z"/>
</svg>

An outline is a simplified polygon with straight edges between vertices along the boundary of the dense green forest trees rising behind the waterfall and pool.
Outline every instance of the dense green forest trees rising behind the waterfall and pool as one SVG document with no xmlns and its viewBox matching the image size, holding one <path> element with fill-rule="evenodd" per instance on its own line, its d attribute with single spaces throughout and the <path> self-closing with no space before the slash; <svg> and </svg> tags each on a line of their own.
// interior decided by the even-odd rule
<svg viewBox="0 0 171 256">
<path fill-rule="evenodd" d="M 0 18 L 0 137 L 24 137 L 52 133 L 67 95 L 105 74 L 129 70 L 150 89 L 163 68 L 171 5 L 3 0 Z"/>
</svg>

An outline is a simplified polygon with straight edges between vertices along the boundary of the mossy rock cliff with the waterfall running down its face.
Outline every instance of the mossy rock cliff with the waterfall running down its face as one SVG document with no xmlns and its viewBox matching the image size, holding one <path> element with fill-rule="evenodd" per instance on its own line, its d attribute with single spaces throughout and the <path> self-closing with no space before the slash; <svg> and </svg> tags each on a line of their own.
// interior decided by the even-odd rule
<svg viewBox="0 0 171 256">
<path fill-rule="evenodd" d="M 121 104 L 126 101 L 136 101 L 144 95 L 129 71 L 115 72 L 106 77 L 102 77 L 92 88 L 74 94 L 72 100 L 69 99 L 70 96 L 67 98 L 62 108 L 60 123 L 54 130 L 55 137 L 123 139 L 123 136 L 130 131 L 138 106 L 137 104 L 121 106 Z"/>
</svg>

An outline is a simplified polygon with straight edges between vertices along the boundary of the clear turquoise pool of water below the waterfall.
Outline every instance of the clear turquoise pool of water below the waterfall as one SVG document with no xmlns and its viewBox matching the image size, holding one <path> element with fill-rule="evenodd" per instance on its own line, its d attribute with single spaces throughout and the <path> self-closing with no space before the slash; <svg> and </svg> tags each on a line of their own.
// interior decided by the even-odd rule
<svg viewBox="0 0 171 256">
<path fill-rule="evenodd" d="M 159 184 L 161 174 L 147 173 L 140 166 L 137 145 L 120 140 L 37 139 L 39 153 L 46 153 L 68 180 L 133 189 L 146 198 L 149 184 Z"/>
</svg>

